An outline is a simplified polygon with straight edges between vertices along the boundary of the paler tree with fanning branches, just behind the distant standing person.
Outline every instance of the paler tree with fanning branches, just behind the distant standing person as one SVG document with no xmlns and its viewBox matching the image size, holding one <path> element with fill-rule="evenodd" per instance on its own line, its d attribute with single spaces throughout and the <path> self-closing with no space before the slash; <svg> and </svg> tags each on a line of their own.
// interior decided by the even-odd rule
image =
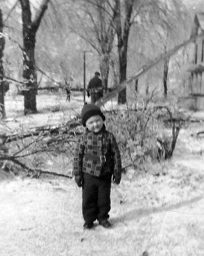
<svg viewBox="0 0 204 256">
<path fill-rule="evenodd" d="M 79 8 L 75 8 L 75 17 L 69 13 L 69 28 L 98 53 L 101 78 L 106 89 L 110 72 L 110 54 L 115 38 L 115 3 L 110 0 L 85 0 L 73 3 L 78 4 Z"/>
</svg>

